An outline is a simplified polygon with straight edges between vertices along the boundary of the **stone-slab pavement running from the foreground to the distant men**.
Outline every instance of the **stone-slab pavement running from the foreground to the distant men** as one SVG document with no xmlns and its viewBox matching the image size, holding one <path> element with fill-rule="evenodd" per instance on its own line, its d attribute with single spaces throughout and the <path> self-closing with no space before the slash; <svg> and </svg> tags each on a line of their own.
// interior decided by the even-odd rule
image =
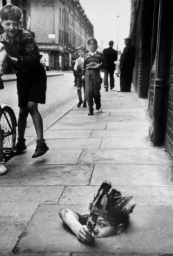
<svg viewBox="0 0 173 256">
<path fill-rule="evenodd" d="M 116 92 L 115 82 L 109 92 L 102 85 L 102 107 L 93 116 L 71 108 L 75 101 L 52 113 L 44 123 L 44 156 L 31 158 L 31 134 L 27 150 L 7 163 L 0 178 L 1 256 L 13 255 L 15 245 L 20 256 L 173 254 L 171 159 L 148 141 L 147 100 Z M 85 245 L 64 228 L 58 211 L 86 213 L 103 180 L 133 195 L 137 206 L 126 233 Z"/>
</svg>

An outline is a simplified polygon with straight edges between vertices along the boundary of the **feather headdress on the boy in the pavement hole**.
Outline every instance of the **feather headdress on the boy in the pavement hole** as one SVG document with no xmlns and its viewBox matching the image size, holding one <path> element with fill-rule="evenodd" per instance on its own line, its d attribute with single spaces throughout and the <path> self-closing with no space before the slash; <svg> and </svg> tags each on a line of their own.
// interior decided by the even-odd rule
<svg viewBox="0 0 173 256">
<path fill-rule="evenodd" d="M 94 213 L 114 222 L 117 215 L 128 215 L 133 212 L 136 204 L 129 204 L 132 197 L 122 196 L 115 187 L 111 186 L 111 182 L 104 180 L 89 205 L 90 216 Z"/>
</svg>

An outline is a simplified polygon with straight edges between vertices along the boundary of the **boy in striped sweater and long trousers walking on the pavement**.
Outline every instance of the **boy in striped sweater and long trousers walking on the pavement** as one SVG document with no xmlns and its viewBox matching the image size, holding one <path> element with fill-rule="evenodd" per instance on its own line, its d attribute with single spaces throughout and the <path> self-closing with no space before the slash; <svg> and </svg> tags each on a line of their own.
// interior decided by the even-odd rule
<svg viewBox="0 0 173 256">
<path fill-rule="evenodd" d="M 100 89 L 101 77 L 100 69 L 105 68 L 105 56 L 103 52 L 97 52 L 97 40 L 90 37 L 87 41 L 89 52 L 84 55 L 82 80 L 85 81 L 85 94 L 89 107 L 89 116 L 93 115 L 94 102 L 96 109 L 101 108 Z M 94 102 L 93 102 L 94 98 Z"/>
</svg>

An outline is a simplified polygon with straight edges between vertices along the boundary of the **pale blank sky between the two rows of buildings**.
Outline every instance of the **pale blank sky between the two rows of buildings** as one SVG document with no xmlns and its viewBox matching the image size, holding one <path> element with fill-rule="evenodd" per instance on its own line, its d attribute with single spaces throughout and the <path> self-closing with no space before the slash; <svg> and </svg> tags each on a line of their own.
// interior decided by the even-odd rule
<svg viewBox="0 0 173 256">
<path fill-rule="evenodd" d="M 117 50 L 117 27 L 119 24 L 118 49 L 125 47 L 123 38 L 129 36 L 131 0 L 79 0 L 84 11 L 94 26 L 94 37 L 98 45 L 103 40 L 104 48 L 114 41 Z M 119 13 L 119 18 L 117 14 Z"/>
</svg>

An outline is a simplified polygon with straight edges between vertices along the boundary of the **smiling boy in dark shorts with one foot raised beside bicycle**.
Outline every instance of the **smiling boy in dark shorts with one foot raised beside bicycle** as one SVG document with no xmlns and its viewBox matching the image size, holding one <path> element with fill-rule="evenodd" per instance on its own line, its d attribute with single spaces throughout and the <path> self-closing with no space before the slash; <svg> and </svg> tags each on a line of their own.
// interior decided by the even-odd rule
<svg viewBox="0 0 173 256">
<path fill-rule="evenodd" d="M 0 11 L 1 25 L 5 33 L 0 36 L 7 52 L 7 61 L 15 69 L 18 92 L 18 142 L 16 154 L 26 149 L 25 128 L 27 116 L 30 113 L 37 133 L 37 145 L 32 158 L 42 156 L 49 149 L 43 139 L 43 122 L 38 110 L 38 103 L 46 101 L 46 71 L 40 63 L 38 46 L 32 35 L 23 28 L 22 13 L 12 4 L 5 5 Z"/>
</svg>

